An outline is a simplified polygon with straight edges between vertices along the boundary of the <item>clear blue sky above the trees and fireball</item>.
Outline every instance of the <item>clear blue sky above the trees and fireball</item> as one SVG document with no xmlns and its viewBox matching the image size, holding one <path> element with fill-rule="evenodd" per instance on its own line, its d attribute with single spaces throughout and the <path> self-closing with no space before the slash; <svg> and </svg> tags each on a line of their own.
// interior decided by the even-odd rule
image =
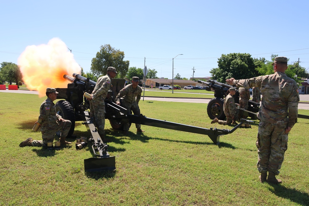
<svg viewBox="0 0 309 206">
<path fill-rule="evenodd" d="M 210 76 L 222 54 L 286 56 L 309 68 L 308 1 L 5 1 L 0 62 L 60 38 L 90 71 L 100 46 L 124 51 L 130 67 L 158 77 Z"/>
</svg>

